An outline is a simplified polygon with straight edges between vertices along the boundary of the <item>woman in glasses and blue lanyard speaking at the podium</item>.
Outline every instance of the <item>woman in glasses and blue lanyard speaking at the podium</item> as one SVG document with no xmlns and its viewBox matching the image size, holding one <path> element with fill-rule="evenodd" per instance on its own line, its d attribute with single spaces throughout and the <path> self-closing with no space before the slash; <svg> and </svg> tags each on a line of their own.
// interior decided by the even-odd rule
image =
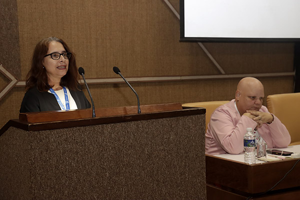
<svg viewBox="0 0 300 200">
<path fill-rule="evenodd" d="M 75 55 L 57 37 L 40 40 L 26 76 L 20 112 L 90 108 L 80 88 Z"/>
</svg>

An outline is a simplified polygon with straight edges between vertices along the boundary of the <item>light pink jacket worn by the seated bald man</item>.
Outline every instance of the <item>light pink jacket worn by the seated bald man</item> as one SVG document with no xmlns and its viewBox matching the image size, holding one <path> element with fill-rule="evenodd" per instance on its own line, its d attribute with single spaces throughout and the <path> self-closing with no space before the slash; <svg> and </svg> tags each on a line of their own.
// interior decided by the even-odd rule
<svg viewBox="0 0 300 200">
<path fill-rule="evenodd" d="M 205 134 L 205 153 L 215 155 L 243 152 L 243 136 L 246 128 L 251 127 L 254 130 L 257 123 L 247 116 L 240 116 L 234 101 L 235 99 L 232 99 L 212 112 Z M 268 112 L 263 105 L 259 111 Z M 286 147 L 290 143 L 286 127 L 275 115 L 272 123 L 263 123 L 257 131 L 268 148 Z"/>
</svg>

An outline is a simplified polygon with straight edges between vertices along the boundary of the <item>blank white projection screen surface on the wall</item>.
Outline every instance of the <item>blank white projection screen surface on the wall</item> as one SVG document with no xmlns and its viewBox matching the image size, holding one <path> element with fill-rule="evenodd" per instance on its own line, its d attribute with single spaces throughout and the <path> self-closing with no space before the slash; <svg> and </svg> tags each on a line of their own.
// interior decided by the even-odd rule
<svg viewBox="0 0 300 200">
<path fill-rule="evenodd" d="M 184 0 L 183 17 L 184 37 L 300 38 L 300 0 Z"/>
</svg>

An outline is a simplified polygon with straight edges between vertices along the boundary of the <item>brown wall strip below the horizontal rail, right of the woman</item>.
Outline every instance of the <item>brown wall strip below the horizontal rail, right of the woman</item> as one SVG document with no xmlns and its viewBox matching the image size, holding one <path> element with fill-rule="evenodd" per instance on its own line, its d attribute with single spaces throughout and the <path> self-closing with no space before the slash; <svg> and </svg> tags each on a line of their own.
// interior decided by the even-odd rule
<svg viewBox="0 0 300 200">
<path fill-rule="evenodd" d="M 259 78 L 264 84 L 265 98 L 269 94 L 293 92 L 289 77 Z M 170 82 L 131 83 L 140 104 L 231 100 L 237 79 L 190 80 Z M 136 105 L 137 99 L 126 83 L 89 85 L 96 108 Z M 85 91 L 85 95 L 88 94 Z M 264 98 L 264 99 L 265 99 Z M 88 98 L 89 99 L 89 98 Z M 263 102 L 265 104 L 265 102 Z"/>
</svg>

